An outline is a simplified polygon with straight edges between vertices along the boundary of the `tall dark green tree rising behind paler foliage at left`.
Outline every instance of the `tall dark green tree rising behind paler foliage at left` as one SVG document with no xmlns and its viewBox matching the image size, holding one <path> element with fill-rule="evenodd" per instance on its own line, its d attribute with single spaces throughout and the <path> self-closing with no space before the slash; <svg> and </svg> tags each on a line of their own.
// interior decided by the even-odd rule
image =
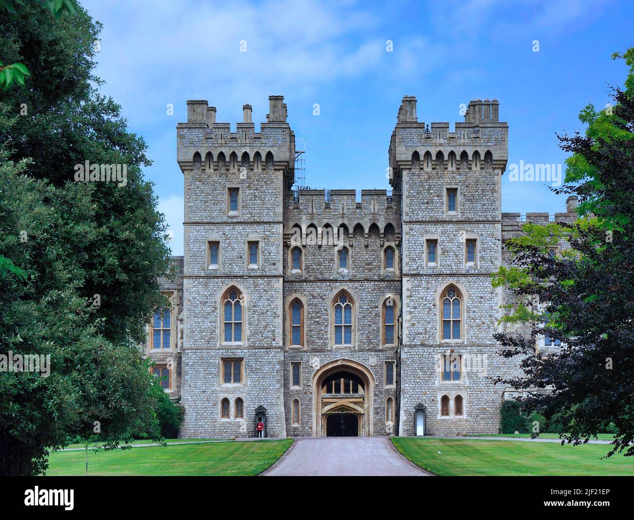
<svg viewBox="0 0 634 520">
<path fill-rule="evenodd" d="M 94 232 L 75 244 L 75 253 L 82 294 L 100 299 L 100 333 L 141 342 L 152 309 L 165 304 L 155 275 L 169 269 L 167 226 L 152 183 L 141 174 L 151 163 L 146 143 L 127 131 L 119 105 L 98 90 L 103 82 L 93 74 L 93 41 L 101 26 L 81 9 L 55 20 L 37 2 L 4 21 L 0 56 L 25 63 L 32 74 L 28 88 L 15 86 L 4 96 L 13 114 L 27 111 L 11 130 L 0 126 L 0 142 L 11 140 L 12 157 L 32 159 L 27 173 L 56 186 L 74 182 L 75 166 L 86 161 L 126 165 L 125 186 L 89 183 Z"/>
</svg>

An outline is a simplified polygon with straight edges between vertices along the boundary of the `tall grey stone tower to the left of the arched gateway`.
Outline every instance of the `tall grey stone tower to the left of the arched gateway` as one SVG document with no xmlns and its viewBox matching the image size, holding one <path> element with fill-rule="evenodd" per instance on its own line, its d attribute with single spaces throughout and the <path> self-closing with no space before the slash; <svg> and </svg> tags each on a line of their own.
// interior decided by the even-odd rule
<svg viewBox="0 0 634 520">
<path fill-rule="evenodd" d="M 177 126 L 184 176 L 182 403 L 184 437 L 286 436 L 283 406 L 283 192 L 294 182 L 295 137 L 283 97 L 269 97 L 255 132 L 216 122 L 187 102 Z"/>
</svg>

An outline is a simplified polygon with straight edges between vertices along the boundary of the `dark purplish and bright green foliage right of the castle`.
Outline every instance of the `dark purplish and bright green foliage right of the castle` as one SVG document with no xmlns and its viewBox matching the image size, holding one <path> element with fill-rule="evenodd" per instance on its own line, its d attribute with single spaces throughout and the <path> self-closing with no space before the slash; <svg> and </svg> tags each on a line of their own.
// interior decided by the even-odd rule
<svg viewBox="0 0 634 520">
<path fill-rule="evenodd" d="M 525 411 L 566 415 L 562 443 L 587 442 L 613 422 L 608 455 L 634 455 L 634 48 L 614 58 L 630 69 L 625 90 L 612 91 L 614 106 L 588 105 L 579 116 L 585 134 L 559 137 L 572 156 L 555 192 L 578 195 L 579 220 L 526 225 L 507 243 L 515 266 L 493 275 L 494 286 L 517 298 L 503 321 L 529 331 L 495 335 L 503 356 L 522 358 L 524 372 L 496 382 L 531 390 Z M 570 249 L 550 258 L 548 247 L 564 237 Z M 561 340 L 560 351 L 536 352 L 538 335 Z"/>
</svg>

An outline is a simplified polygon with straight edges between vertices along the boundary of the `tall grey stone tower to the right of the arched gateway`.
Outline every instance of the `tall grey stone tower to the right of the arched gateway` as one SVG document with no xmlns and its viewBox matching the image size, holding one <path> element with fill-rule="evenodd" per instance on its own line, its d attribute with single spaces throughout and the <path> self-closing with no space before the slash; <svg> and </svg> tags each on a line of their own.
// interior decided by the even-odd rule
<svg viewBox="0 0 634 520">
<path fill-rule="evenodd" d="M 501 174 L 508 125 L 496 100 L 469 103 L 463 123 L 418 122 L 406 96 L 392 133 L 392 185 L 402 189 L 403 338 L 399 434 L 427 409 L 431 435 L 496 433 L 503 360 L 493 339 L 501 293 Z"/>
</svg>

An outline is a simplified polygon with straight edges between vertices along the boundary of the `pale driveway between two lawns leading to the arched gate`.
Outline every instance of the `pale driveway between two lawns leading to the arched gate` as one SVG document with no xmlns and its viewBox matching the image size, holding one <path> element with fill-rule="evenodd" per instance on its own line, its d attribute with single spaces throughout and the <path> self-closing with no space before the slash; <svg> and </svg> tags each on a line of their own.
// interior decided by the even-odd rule
<svg viewBox="0 0 634 520">
<path fill-rule="evenodd" d="M 265 476 L 425 476 L 387 437 L 300 437 Z"/>
</svg>

